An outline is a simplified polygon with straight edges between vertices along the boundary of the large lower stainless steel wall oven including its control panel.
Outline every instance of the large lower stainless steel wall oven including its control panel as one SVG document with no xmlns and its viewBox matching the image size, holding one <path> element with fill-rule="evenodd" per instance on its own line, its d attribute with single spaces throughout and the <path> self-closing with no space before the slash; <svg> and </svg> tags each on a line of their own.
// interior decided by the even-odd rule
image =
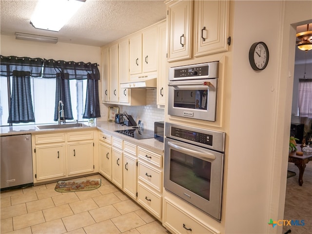
<svg viewBox="0 0 312 234">
<path fill-rule="evenodd" d="M 165 123 L 164 187 L 221 220 L 225 133 Z"/>
</svg>

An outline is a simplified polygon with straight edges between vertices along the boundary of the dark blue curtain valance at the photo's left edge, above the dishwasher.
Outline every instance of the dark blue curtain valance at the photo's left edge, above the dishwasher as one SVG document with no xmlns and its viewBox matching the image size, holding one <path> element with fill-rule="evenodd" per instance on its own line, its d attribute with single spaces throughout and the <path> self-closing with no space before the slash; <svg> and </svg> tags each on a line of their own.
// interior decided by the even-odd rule
<svg viewBox="0 0 312 234">
<path fill-rule="evenodd" d="M 0 56 L 0 75 L 3 77 L 11 77 L 13 71 L 29 72 L 31 77 L 41 77 L 43 59 L 16 57 L 16 56 Z"/>
</svg>

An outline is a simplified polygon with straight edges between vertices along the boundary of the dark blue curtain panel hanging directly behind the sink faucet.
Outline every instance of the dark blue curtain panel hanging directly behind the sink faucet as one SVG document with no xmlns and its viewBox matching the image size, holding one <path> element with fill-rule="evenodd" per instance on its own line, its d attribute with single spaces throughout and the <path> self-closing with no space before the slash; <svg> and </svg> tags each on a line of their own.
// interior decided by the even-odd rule
<svg viewBox="0 0 312 234">
<path fill-rule="evenodd" d="M 72 112 L 72 102 L 70 98 L 69 79 L 66 79 L 68 74 L 58 74 L 56 93 L 55 93 L 55 107 L 54 107 L 54 121 L 59 118 L 59 101 L 64 104 L 65 119 L 74 119 Z"/>
</svg>

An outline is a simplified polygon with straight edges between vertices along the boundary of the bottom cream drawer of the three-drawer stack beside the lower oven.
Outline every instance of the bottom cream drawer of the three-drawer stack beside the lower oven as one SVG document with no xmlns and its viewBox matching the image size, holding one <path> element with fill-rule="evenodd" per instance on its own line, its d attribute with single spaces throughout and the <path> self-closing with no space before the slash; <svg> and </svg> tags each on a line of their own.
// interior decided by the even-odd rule
<svg viewBox="0 0 312 234">
<path fill-rule="evenodd" d="M 161 195 L 156 194 L 140 182 L 137 183 L 137 202 L 158 219 L 161 219 L 161 200 Z"/>
</svg>

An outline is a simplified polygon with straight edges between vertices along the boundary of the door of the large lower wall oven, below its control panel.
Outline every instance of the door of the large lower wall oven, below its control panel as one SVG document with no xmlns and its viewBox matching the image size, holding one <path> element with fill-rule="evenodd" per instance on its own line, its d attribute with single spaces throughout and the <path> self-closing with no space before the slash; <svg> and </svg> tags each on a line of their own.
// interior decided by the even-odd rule
<svg viewBox="0 0 312 234">
<path fill-rule="evenodd" d="M 165 138 L 164 187 L 220 220 L 224 154 Z"/>
</svg>

